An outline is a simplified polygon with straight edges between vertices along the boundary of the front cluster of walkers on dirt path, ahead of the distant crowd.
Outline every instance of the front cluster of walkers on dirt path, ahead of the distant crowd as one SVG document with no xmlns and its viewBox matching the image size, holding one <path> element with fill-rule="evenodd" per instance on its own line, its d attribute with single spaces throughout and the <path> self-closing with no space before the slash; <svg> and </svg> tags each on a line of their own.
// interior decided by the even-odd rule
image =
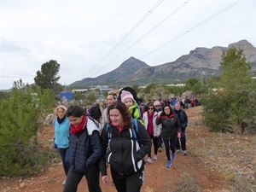
<svg viewBox="0 0 256 192">
<path fill-rule="evenodd" d="M 59 148 L 66 175 L 63 192 L 75 192 L 82 177 L 90 192 L 101 192 L 102 183 L 108 184 L 110 166 L 113 185 L 118 192 L 139 192 L 143 185 L 144 166 L 152 163 L 160 147 L 166 151 L 166 167 L 172 166 L 175 154 L 186 152 L 185 130 L 188 117 L 177 102 L 172 109 L 166 103 L 148 102 L 146 110 L 138 107 L 137 94 L 123 89 L 119 96 L 109 93 L 108 107 L 99 118 L 86 115 L 80 106 L 58 106 L 53 121 L 55 146 Z M 94 105 L 95 106 L 95 105 Z M 171 152 L 170 153 L 170 149 Z M 148 156 L 147 160 L 144 158 Z"/>
</svg>

